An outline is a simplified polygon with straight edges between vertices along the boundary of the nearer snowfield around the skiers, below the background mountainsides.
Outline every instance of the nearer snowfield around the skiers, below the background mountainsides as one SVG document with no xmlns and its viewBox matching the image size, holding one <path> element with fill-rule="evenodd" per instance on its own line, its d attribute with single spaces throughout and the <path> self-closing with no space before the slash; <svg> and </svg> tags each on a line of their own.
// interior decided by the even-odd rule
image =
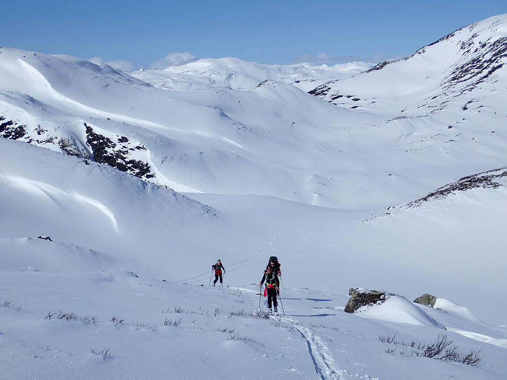
<svg viewBox="0 0 507 380">
<path fill-rule="evenodd" d="M 498 255 L 486 254 L 505 243 L 504 186 L 365 222 L 365 212 L 269 197 L 194 194 L 196 203 L 108 166 L 0 143 L 16 158 L 1 170 L 0 213 L 0 355 L 12 378 L 259 378 L 269 366 L 287 379 L 495 379 L 507 369 L 507 330 L 481 321 L 504 315 L 498 293 L 484 292 L 504 291 Z M 283 259 L 286 316 L 252 318 L 272 254 Z M 230 288 L 208 287 L 217 258 Z M 348 315 L 357 284 L 409 299 L 431 292 L 442 310 L 393 298 Z M 440 334 L 463 353 L 482 350 L 481 367 L 401 355 L 404 346 L 379 340 L 430 344 Z"/>
</svg>

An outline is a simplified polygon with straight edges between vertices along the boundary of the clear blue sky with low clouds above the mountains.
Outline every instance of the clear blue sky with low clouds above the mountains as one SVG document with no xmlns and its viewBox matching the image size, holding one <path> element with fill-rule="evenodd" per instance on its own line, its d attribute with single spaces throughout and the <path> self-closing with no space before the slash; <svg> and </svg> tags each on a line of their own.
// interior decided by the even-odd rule
<svg viewBox="0 0 507 380">
<path fill-rule="evenodd" d="M 8 1 L 0 46 L 134 67 L 235 57 L 378 62 L 507 13 L 504 0 Z"/>
</svg>

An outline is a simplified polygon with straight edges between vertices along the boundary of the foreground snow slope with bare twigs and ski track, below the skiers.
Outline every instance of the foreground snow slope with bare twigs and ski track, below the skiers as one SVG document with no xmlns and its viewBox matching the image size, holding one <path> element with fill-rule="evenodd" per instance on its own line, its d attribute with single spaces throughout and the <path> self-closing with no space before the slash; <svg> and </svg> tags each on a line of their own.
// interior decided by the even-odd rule
<svg viewBox="0 0 507 380">
<path fill-rule="evenodd" d="M 421 310 L 408 301 L 378 309 L 403 315 L 390 322 L 343 313 L 343 296 L 294 289 L 283 300 L 290 315 L 264 319 L 263 312 L 257 314 L 255 286 L 168 284 L 117 271 L 2 270 L 2 275 L 23 300 L 13 301 L 13 309 L 0 308 L 6 320 L 0 338 L 9 344 L 9 354 L 2 350 L 3 373 L 10 378 L 500 379 L 505 371 L 504 348 L 415 325 L 411 318 L 422 314 L 455 328 L 472 326 L 476 336 L 505 339 L 505 329 L 467 323 L 456 312 Z M 42 298 L 30 291 L 35 286 Z M 58 319 L 72 313 L 78 319 Z M 400 355 L 403 346 L 379 340 L 394 336 L 400 343 L 428 344 L 440 333 L 463 353 L 482 349 L 483 365 Z M 387 354 L 389 349 L 396 353 Z"/>
</svg>

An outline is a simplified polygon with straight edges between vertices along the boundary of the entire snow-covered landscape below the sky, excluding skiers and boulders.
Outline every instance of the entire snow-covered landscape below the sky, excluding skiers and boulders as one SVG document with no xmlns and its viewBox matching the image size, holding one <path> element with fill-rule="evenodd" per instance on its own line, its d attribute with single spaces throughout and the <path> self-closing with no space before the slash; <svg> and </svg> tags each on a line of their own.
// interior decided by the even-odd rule
<svg viewBox="0 0 507 380">
<path fill-rule="evenodd" d="M 130 74 L 0 48 L 2 373 L 503 378 L 505 41 L 507 15 L 375 67 Z M 400 295 L 350 315 L 351 287 Z M 481 365 L 414 351 L 439 336 Z"/>
</svg>

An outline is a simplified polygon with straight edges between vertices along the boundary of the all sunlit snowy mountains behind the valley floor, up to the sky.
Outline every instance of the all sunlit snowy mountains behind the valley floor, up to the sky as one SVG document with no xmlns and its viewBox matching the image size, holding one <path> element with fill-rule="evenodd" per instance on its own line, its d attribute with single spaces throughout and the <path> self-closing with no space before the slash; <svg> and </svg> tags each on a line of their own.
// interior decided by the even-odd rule
<svg viewBox="0 0 507 380">
<path fill-rule="evenodd" d="M 506 19 L 374 68 L 224 58 L 134 78 L 2 48 L 0 135 L 178 192 L 402 204 L 505 166 Z"/>
</svg>

